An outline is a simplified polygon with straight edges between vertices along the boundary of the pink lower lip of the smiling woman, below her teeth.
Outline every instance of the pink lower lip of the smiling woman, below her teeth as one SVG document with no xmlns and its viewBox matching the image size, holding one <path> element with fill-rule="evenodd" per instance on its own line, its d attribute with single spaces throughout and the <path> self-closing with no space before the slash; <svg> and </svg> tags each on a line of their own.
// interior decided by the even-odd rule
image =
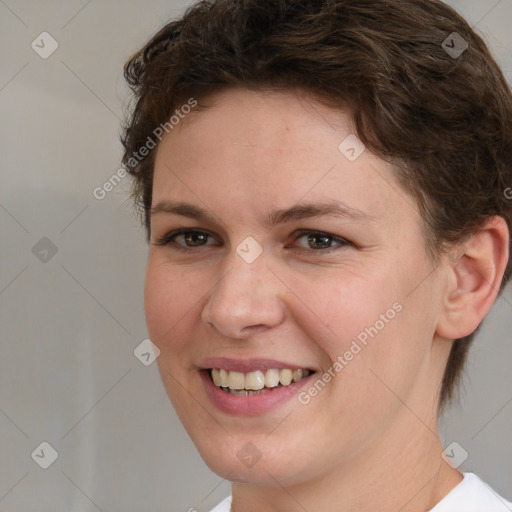
<svg viewBox="0 0 512 512">
<path fill-rule="evenodd" d="M 240 416 L 256 416 L 279 407 L 295 397 L 314 373 L 289 386 L 277 386 L 266 393 L 249 396 L 232 395 L 222 391 L 210 378 L 208 370 L 199 372 L 205 390 L 213 404 L 222 412 Z"/>
</svg>

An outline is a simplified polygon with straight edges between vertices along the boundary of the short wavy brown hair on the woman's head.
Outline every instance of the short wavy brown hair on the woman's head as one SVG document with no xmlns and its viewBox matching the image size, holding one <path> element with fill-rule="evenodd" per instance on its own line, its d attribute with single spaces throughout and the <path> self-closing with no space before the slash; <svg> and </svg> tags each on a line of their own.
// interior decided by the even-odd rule
<svg viewBox="0 0 512 512">
<path fill-rule="evenodd" d="M 164 26 L 125 77 L 136 105 L 123 163 L 148 237 L 154 152 L 133 155 L 157 127 L 168 131 L 187 98 L 233 86 L 298 89 L 348 109 L 366 147 L 398 163 L 434 258 L 488 217 L 511 230 L 510 87 L 482 39 L 439 0 L 205 0 Z M 511 272 L 509 260 L 500 291 Z M 475 333 L 453 344 L 440 407 L 454 398 Z"/>
</svg>

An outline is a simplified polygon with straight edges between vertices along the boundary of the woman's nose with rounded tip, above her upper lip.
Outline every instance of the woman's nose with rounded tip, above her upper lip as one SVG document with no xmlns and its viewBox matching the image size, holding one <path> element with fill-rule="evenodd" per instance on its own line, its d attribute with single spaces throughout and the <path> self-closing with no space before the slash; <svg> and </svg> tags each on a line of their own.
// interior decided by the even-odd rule
<svg viewBox="0 0 512 512">
<path fill-rule="evenodd" d="M 281 324 L 285 318 L 282 283 L 264 255 L 246 263 L 237 254 L 212 290 L 202 320 L 223 337 L 243 339 Z"/>
</svg>

